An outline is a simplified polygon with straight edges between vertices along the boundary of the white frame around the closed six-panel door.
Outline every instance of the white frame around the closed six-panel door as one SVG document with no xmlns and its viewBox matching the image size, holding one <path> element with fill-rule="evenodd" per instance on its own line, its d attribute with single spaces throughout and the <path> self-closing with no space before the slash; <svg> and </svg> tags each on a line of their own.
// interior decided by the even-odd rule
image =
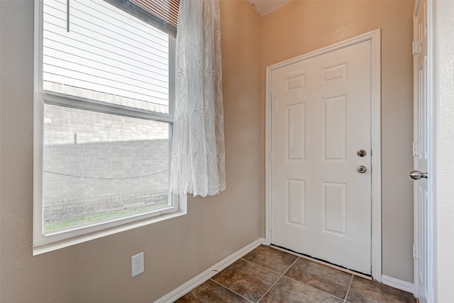
<svg viewBox="0 0 454 303">
<path fill-rule="evenodd" d="M 269 65 L 266 68 L 266 107 L 265 107 L 265 242 L 271 244 L 271 113 L 272 113 L 272 92 L 271 80 L 272 72 L 280 67 L 291 65 L 295 62 L 309 60 L 326 53 L 331 53 L 341 48 L 347 48 L 364 41 L 370 40 L 371 55 L 371 99 L 370 99 L 370 130 L 372 147 L 372 248 L 371 264 L 372 278 L 379 282 L 382 281 L 382 148 L 381 148 L 381 81 L 380 81 L 380 28 L 375 31 L 363 33 L 353 38 L 343 40 L 325 48 L 320 48 L 304 55 L 293 57 L 289 60 Z"/>
</svg>

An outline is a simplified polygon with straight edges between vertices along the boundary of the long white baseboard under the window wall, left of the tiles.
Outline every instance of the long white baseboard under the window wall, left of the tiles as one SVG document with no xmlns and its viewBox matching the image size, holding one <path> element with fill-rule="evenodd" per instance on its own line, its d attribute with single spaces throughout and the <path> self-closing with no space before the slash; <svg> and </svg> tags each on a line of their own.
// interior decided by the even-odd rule
<svg viewBox="0 0 454 303">
<path fill-rule="evenodd" d="M 179 299 L 179 297 L 184 296 L 184 294 L 187 294 L 195 287 L 201 285 L 206 280 L 209 280 L 211 277 L 216 275 L 216 273 L 220 272 L 228 265 L 231 265 L 233 262 L 243 257 L 243 255 L 250 253 L 250 251 L 252 251 L 254 248 L 265 243 L 266 241 L 264 238 L 258 238 L 253 243 L 250 243 L 247 246 L 236 251 L 235 253 L 232 253 L 227 258 L 221 260 L 221 262 L 216 263 L 215 265 L 211 266 L 211 268 L 205 270 L 204 272 L 201 272 L 201 274 L 199 275 L 196 275 L 196 277 L 193 277 L 191 280 L 185 282 L 183 285 L 177 287 L 175 290 L 172 290 L 172 292 L 169 292 L 168 294 L 165 294 L 164 296 L 160 297 L 154 303 L 174 302 L 175 300 Z"/>
</svg>

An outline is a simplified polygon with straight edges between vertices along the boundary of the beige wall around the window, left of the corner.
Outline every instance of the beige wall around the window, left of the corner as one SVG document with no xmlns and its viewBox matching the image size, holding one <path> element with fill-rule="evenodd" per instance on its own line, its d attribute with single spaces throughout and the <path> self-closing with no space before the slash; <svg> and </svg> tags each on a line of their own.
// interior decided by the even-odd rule
<svg viewBox="0 0 454 303">
<path fill-rule="evenodd" d="M 227 189 L 186 216 L 32 256 L 33 1 L 0 1 L 2 303 L 153 302 L 260 236 L 260 18 L 221 1 Z M 131 278 L 131 255 L 145 272 Z"/>
</svg>

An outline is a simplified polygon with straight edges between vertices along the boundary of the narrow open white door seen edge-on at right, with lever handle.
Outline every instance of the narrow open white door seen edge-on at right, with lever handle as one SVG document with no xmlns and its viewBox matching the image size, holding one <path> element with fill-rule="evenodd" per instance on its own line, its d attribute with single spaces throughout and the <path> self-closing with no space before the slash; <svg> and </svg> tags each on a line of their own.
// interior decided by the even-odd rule
<svg viewBox="0 0 454 303">
<path fill-rule="evenodd" d="M 427 77 L 427 2 L 416 1 L 414 16 L 414 285 L 419 302 L 428 302 L 428 243 L 431 211 L 428 200 L 428 77 Z M 421 179 L 418 179 L 420 178 Z"/>
</svg>

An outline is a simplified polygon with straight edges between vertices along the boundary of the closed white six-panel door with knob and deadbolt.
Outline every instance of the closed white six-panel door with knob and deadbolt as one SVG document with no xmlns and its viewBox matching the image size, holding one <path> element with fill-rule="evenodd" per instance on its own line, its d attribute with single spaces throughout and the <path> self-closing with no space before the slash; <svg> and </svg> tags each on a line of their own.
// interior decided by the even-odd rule
<svg viewBox="0 0 454 303">
<path fill-rule="evenodd" d="M 271 243 L 371 274 L 370 40 L 272 71 Z"/>
</svg>

